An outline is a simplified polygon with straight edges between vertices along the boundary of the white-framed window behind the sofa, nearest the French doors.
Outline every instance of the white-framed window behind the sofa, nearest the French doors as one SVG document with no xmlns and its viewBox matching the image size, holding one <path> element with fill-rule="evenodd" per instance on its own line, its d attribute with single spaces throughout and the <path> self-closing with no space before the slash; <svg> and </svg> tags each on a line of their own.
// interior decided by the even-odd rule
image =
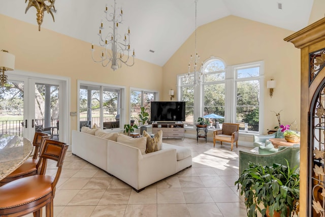
<svg viewBox="0 0 325 217">
<path fill-rule="evenodd" d="M 94 124 L 101 129 L 121 127 L 124 88 L 108 85 L 79 84 L 79 128 Z"/>
</svg>

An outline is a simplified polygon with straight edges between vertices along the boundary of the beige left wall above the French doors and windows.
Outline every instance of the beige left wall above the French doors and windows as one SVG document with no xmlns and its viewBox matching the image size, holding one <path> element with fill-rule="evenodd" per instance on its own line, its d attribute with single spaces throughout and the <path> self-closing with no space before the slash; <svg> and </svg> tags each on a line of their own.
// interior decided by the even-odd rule
<svg viewBox="0 0 325 217">
<path fill-rule="evenodd" d="M 125 86 L 126 119 L 129 87 L 161 91 L 163 70 L 157 65 L 136 59 L 133 67 L 122 66 L 114 72 L 92 61 L 91 45 L 84 41 L 45 28 L 39 32 L 36 25 L 4 15 L 0 15 L 0 29 L 0 49 L 15 54 L 16 70 L 71 78 L 71 111 L 77 111 L 77 79 Z M 76 129 L 76 118 L 71 121 Z"/>
</svg>

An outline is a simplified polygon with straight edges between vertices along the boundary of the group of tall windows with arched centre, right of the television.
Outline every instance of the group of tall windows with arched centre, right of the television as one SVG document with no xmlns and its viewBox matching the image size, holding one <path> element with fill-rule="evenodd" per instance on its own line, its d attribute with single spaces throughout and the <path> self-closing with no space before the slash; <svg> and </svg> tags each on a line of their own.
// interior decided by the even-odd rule
<svg viewBox="0 0 325 217">
<path fill-rule="evenodd" d="M 187 127 L 209 115 L 212 128 L 237 122 L 241 132 L 258 133 L 263 70 L 263 61 L 226 67 L 221 59 L 210 58 L 203 64 L 204 76 L 198 84 L 193 74 L 179 75 L 178 100 L 186 102 Z"/>
</svg>

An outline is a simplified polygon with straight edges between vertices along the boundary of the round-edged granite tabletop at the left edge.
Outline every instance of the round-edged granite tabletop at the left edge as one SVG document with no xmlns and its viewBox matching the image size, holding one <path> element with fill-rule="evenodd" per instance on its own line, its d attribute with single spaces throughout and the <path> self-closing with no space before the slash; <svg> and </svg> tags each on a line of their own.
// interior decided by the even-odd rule
<svg viewBox="0 0 325 217">
<path fill-rule="evenodd" d="M 32 143 L 26 138 L 0 134 L 0 180 L 23 164 L 32 149 Z"/>
</svg>

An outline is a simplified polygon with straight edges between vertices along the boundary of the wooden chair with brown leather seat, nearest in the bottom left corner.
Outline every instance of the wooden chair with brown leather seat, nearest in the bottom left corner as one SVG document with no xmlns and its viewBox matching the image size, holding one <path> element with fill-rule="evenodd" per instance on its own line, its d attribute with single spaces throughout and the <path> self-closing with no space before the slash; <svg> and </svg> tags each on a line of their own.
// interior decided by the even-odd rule
<svg viewBox="0 0 325 217">
<path fill-rule="evenodd" d="M 21 216 L 33 212 L 34 216 L 40 217 L 44 206 L 46 216 L 53 216 L 56 183 L 68 146 L 63 142 L 44 140 L 38 163 L 42 164 L 40 174 L 20 178 L 0 187 L 0 216 Z M 55 177 L 45 175 L 48 159 L 57 162 Z"/>
</svg>

